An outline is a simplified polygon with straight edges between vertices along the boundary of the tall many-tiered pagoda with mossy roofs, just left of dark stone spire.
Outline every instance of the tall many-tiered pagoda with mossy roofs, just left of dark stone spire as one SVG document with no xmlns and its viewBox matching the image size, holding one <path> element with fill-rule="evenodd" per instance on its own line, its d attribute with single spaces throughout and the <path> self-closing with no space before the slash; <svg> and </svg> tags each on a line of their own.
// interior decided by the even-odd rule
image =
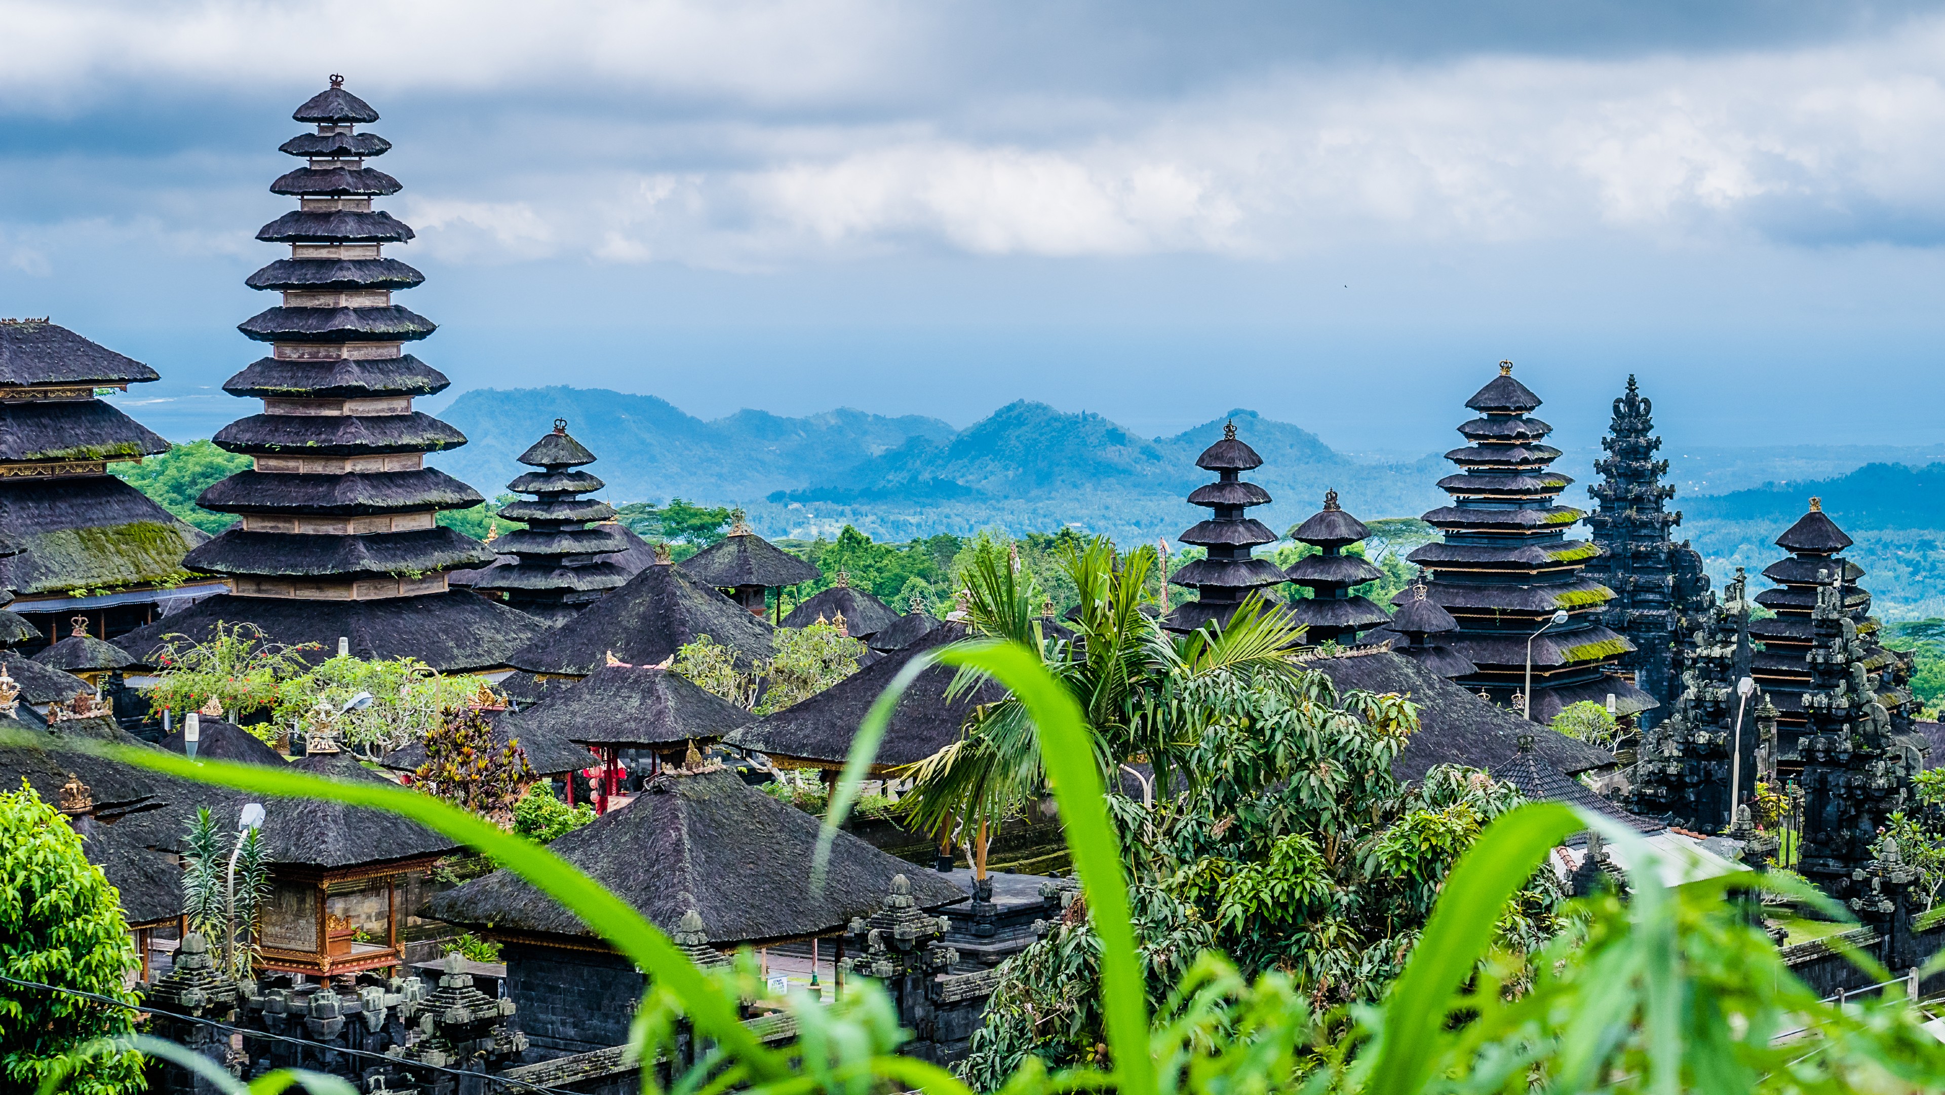
<svg viewBox="0 0 1945 1095">
<path fill-rule="evenodd" d="M 1601 548 L 1566 539 L 1583 513 L 1560 506 L 1574 480 L 1548 471 L 1560 449 L 1544 443 L 1554 428 L 1529 418 L 1540 397 L 1513 379 L 1511 362 L 1500 362 L 1500 375 L 1467 406 L 1478 412 L 1459 426 L 1468 445 L 1445 453 L 1463 471 L 1439 480 L 1451 504 L 1424 515 L 1443 543 L 1406 556 L 1426 570 L 1426 597 L 1459 622 L 1447 646 L 1478 667 L 1455 681 L 1511 704 L 1525 689 L 1531 644 L 1533 696 L 1525 702 L 1535 722 L 1609 694 L 1622 716 L 1653 708 L 1653 696 L 1609 673 L 1634 644 L 1601 622 L 1614 591 L 1581 572 Z M 1550 622 L 1556 613 L 1566 620 Z"/>
</svg>

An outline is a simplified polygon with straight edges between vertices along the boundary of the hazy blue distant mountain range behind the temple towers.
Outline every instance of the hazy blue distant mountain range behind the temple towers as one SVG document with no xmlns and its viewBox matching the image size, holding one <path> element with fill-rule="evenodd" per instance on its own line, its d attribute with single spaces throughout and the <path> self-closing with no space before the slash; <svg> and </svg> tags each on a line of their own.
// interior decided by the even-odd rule
<svg viewBox="0 0 1945 1095">
<path fill-rule="evenodd" d="M 486 496 L 523 471 L 513 461 L 521 449 L 566 418 L 601 457 L 591 471 L 609 500 L 739 504 L 772 537 L 829 537 L 846 523 L 895 541 L 1060 525 L 1120 543 L 1173 537 L 1200 515 L 1185 502 L 1208 480 L 1194 459 L 1225 420 L 1264 459 L 1251 478 L 1276 500 L 1258 512 L 1272 529 L 1313 513 L 1325 490 L 1360 517 L 1418 515 L 1443 502 L 1433 484 L 1451 471 L 1437 455 L 1352 459 L 1301 426 L 1243 408 L 1171 438 L 1025 401 L 953 430 L 850 408 L 702 420 L 650 395 L 572 387 L 469 391 L 440 416 L 469 443 L 434 463 Z M 1558 467 L 1583 484 L 1597 455 L 1595 445 L 1568 447 Z M 1684 512 L 1677 535 L 1710 558 L 1717 583 L 1735 566 L 1754 576 L 1774 562 L 1782 552 L 1772 541 L 1817 494 L 1857 539 L 1852 556 L 1871 572 L 1865 585 L 1887 615 L 1945 615 L 1945 445 L 1669 445 L 1663 455 Z M 1589 506 L 1579 484 L 1564 502 Z"/>
</svg>

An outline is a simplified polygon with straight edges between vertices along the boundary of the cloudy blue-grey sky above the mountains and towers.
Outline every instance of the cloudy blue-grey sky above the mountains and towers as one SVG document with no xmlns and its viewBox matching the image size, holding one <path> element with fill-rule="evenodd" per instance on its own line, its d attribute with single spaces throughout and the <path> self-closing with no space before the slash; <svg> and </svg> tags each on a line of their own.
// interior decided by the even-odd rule
<svg viewBox="0 0 1945 1095">
<path fill-rule="evenodd" d="M 331 72 L 383 121 L 455 391 L 1447 445 L 1511 358 L 1568 447 L 1939 438 L 1945 6 L 0 0 L 0 315 L 245 410 L 233 325 Z"/>
</svg>

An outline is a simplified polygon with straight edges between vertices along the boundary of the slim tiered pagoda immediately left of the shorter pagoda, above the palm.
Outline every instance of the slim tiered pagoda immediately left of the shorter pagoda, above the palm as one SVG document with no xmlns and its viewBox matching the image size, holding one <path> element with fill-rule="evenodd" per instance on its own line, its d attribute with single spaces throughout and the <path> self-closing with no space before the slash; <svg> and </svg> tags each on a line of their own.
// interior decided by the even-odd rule
<svg viewBox="0 0 1945 1095">
<path fill-rule="evenodd" d="M 1208 548 L 1208 556 L 1169 578 L 1175 585 L 1196 589 L 1196 599 L 1179 605 L 1161 624 L 1177 632 L 1192 632 L 1210 622 L 1227 624 L 1251 593 L 1284 583 L 1284 572 L 1274 562 L 1251 554 L 1256 545 L 1274 543 L 1276 533 L 1243 515 L 1253 506 L 1266 506 L 1270 492 L 1241 480 L 1241 473 L 1262 467 L 1262 457 L 1237 440 L 1235 422 L 1223 424 L 1221 440 L 1202 449 L 1196 467 L 1216 473 L 1216 482 L 1198 486 L 1188 496 L 1190 506 L 1210 508 L 1210 519 L 1179 539 Z"/>
</svg>

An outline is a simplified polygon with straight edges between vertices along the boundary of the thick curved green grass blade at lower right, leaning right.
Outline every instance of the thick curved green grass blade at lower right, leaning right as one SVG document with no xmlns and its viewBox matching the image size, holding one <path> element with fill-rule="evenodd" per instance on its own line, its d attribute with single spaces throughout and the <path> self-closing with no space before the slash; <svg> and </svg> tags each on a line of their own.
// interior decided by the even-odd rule
<svg viewBox="0 0 1945 1095">
<path fill-rule="evenodd" d="M 1478 834 L 1445 879 L 1404 974 L 1391 986 L 1371 1091 L 1416 1095 L 1426 1087 L 1453 994 L 1492 945 L 1500 910 L 1527 885 L 1540 860 L 1581 829 L 1587 821 L 1572 809 L 1531 803 L 1502 815 Z"/>
</svg>

